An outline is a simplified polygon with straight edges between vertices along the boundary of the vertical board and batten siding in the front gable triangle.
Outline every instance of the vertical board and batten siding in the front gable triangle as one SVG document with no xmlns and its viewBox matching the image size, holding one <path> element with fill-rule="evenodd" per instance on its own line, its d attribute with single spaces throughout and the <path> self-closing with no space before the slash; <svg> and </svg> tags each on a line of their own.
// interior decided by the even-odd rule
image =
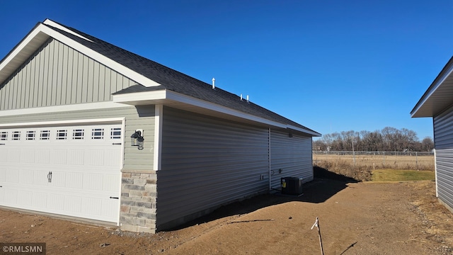
<svg viewBox="0 0 453 255">
<path fill-rule="evenodd" d="M 51 38 L 0 84 L 0 111 L 111 101 L 111 94 L 134 84 Z"/>
</svg>

